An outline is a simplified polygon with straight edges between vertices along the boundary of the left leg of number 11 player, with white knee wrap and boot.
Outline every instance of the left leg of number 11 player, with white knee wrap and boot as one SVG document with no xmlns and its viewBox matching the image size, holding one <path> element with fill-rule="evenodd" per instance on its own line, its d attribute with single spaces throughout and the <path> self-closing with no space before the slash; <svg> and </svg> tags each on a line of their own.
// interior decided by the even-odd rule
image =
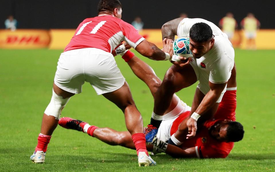
<svg viewBox="0 0 275 172">
<path fill-rule="evenodd" d="M 49 114 L 49 115 L 45 113 L 43 114 L 41 130 L 40 130 L 40 134 L 38 135 L 38 143 L 37 143 L 37 146 L 35 147 L 34 154 L 30 157 L 30 159 L 34 163 L 44 163 L 45 153 L 47 151 L 48 143 L 50 142 L 51 135 L 54 129 L 58 125 L 59 117 L 57 116 L 60 116 L 61 110 L 69 101 L 69 97 L 74 95 L 74 93 L 67 92 L 57 87 L 55 84 L 53 84 L 53 92 L 54 92 L 53 97 L 59 96 L 58 98 L 61 102 L 60 109 L 58 110 L 58 108 L 54 109 L 51 107 L 52 109 L 54 109 L 53 111 L 56 111 L 56 114 Z M 56 100 L 53 100 L 54 99 L 53 97 L 52 97 L 51 103 L 52 101 L 56 101 Z M 51 106 L 51 103 L 48 105 L 47 109 Z M 59 114 L 58 114 L 58 111 L 59 111 Z"/>
</svg>

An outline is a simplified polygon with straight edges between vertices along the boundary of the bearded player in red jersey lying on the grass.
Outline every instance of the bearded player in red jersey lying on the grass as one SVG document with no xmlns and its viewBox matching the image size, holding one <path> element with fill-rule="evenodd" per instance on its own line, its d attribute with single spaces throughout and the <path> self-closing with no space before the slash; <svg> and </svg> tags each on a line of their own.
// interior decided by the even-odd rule
<svg viewBox="0 0 275 172">
<path fill-rule="evenodd" d="M 129 55 L 130 57 L 127 57 Z M 127 59 L 126 61 L 128 61 L 134 74 L 147 84 L 155 98 L 161 80 L 155 75 L 153 69 L 138 57 L 133 57 L 133 54 L 125 54 L 123 58 Z M 233 73 L 235 73 L 235 68 Z M 229 79 L 229 87 L 236 85 L 235 76 L 232 75 Z M 147 145 L 147 150 L 153 151 L 153 153 L 165 152 L 174 157 L 227 157 L 233 149 L 233 142 L 241 140 L 244 133 L 242 125 L 235 122 L 236 89 L 228 88 L 214 118 L 206 121 L 203 125 L 199 125 L 195 137 L 188 139 L 181 147 L 167 145 L 165 142 L 175 133 L 179 124 L 188 119 L 190 109 L 174 94 L 171 105 L 163 116 L 153 145 Z M 120 145 L 134 149 L 131 134 L 128 131 L 119 132 L 110 128 L 98 128 L 69 117 L 61 118 L 59 125 L 67 129 L 82 131 L 109 145 Z"/>
</svg>

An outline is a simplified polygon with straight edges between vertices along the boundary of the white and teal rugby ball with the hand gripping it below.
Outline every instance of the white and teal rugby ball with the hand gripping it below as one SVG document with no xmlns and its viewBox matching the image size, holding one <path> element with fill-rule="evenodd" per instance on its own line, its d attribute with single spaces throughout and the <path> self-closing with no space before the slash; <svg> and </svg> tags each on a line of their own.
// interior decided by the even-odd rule
<svg viewBox="0 0 275 172">
<path fill-rule="evenodd" d="M 188 59 L 189 57 L 193 57 L 191 50 L 189 49 L 189 38 L 186 37 L 179 37 L 176 39 L 173 43 L 173 51 L 174 55 L 172 58 L 172 61 L 180 61 L 178 57 L 186 57 Z"/>
</svg>

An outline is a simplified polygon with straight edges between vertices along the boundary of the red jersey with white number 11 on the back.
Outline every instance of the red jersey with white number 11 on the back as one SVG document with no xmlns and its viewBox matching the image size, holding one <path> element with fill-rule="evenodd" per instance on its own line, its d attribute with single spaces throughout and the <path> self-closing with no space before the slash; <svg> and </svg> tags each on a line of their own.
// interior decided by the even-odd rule
<svg viewBox="0 0 275 172">
<path fill-rule="evenodd" d="M 144 38 L 129 23 L 111 15 L 87 18 L 79 24 L 64 51 L 98 48 L 112 52 L 122 41 L 135 48 Z"/>
</svg>

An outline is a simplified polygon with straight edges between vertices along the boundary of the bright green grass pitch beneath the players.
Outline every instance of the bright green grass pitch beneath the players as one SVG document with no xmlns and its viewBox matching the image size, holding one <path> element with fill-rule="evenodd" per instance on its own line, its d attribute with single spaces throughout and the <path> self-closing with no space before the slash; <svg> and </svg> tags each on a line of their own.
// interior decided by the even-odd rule
<svg viewBox="0 0 275 172">
<path fill-rule="evenodd" d="M 109 146 L 80 132 L 57 127 L 48 146 L 46 162 L 33 164 L 42 114 L 52 95 L 52 82 L 60 50 L 0 50 L 0 171 L 275 171 L 275 51 L 236 50 L 237 121 L 245 129 L 226 159 L 173 159 L 154 156 L 157 166 L 139 168 L 136 152 Z M 137 54 L 137 53 L 136 53 Z M 162 79 L 171 65 L 141 57 Z M 128 65 L 116 57 L 128 81 L 144 124 L 149 123 L 153 97 Z M 196 85 L 178 96 L 191 105 Z M 124 115 L 85 83 L 63 116 L 91 125 L 126 130 Z"/>
</svg>

